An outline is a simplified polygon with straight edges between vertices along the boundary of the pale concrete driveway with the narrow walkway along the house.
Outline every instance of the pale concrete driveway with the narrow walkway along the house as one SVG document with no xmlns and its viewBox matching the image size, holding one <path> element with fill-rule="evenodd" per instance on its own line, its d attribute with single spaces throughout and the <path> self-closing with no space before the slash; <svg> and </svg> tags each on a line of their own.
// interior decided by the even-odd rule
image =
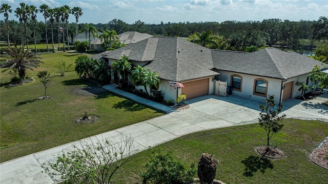
<svg viewBox="0 0 328 184">
<path fill-rule="evenodd" d="M 169 107 L 163 107 L 161 104 L 143 98 L 139 99 L 139 97 L 133 96 L 133 94 L 121 90 L 116 91 L 117 89 L 113 85 L 105 86 L 104 88 L 169 113 L 82 140 L 118 140 L 121 134 L 124 136 L 131 135 L 134 138 L 133 153 L 146 150 L 149 146 L 154 147 L 192 132 L 256 123 L 259 117 L 258 104 L 263 103 L 236 95 L 229 97 L 206 95 L 186 100 L 185 102 L 189 104 L 189 108 L 175 111 Z M 309 101 L 289 99 L 283 103 L 284 109 L 286 109 L 284 113 L 290 118 L 303 117 L 327 120 L 328 107 L 321 105 L 324 100 L 328 100 L 328 95 L 320 95 L 317 99 Z M 53 162 L 58 153 L 73 145 L 78 146 L 79 142 L 71 142 L 2 163 L 0 165 L 0 183 L 50 184 L 58 182 L 59 178 L 42 172 L 44 171 L 42 164 L 48 161 Z"/>
</svg>

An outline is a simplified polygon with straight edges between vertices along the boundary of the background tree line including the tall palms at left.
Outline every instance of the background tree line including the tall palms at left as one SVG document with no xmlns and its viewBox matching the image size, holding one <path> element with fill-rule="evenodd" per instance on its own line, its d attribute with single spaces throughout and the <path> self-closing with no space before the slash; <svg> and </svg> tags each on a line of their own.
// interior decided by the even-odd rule
<svg viewBox="0 0 328 184">
<path fill-rule="evenodd" d="M 37 21 L 36 13 L 42 12 L 44 21 Z M 278 18 L 263 19 L 263 21 L 225 21 L 218 22 L 198 22 L 198 23 L 171 23 L 147 24 L 142 21 L 127 24 L 120 19 L 112 19 L 106 24 L 78 24 L 78 19 L 83 15 L 83 10 L 79 7 L 70 8 L 64 5 L 58 8 L 50 8 L 41 5 L 37 9 L 33 5 L 20 3 L 20 7 L 14 10 L 14 16 L 19 18 L 19 22 L 9 20 L 9 13 L 12 9 L 7 4 L 2 4 L 1 13 L 5 15 L 5 21 L 0 21 L 0 39 L 13 43 L 15 46 L 27 43 L 63 43 L 63 40 L 76 41 L 76 35 L 81 32 L 86 34 L 92 28 L 95 31 L 104 32 L 116 31 L 117 34 L 126 31 L 137 31 L 158 36 L 189 37 L 194 33 L 208 32 L 211 30 L 214 36 L 219 37 L 219 44 L 213 49 L 226 49 L 245 51 L 247 47 L 260 48 L 265 45 L 287 46 L 292 49 L 313 48 L 315 40 L 326 40 L 328 38 L 328 17 L 320 16 L 317 21 L 298 22 L 281 20 Z M 69 23 L 70 15 L 75 16 L 75 21 Z M 87 26 L 86 26 L 87 25 Z M 24 28 L 23 28 L 24 27 Z M 53 30 L 54 29 L 54 30 Z M 10 31 L 9 31 L 10 30 Z M 49 32 L 51 32 L 51 36 Z M 22 34 L 23 33 L 23 34 Z M 90 31 L 89 31 L 90 34 Z M 90 37 L 90 36 L 89 36 Z M 10 38 L 10 39 L 9 39 Z M 23 39 L 24 38 L 24 39 Z M 310 42 L 301 42 L 301 40 Z M 68 45 L 69 46 L 69 45 Z M 69 49 L 69 48 L 68 48 Z M 47 47 L 48 50 L 48 47 Z"/>
</svg>

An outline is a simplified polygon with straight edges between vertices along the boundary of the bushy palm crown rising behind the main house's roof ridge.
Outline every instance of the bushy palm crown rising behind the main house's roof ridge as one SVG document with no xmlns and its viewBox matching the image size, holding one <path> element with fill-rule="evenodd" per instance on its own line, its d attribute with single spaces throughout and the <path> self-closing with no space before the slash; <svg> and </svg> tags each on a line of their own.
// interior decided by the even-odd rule
<svg viewBox="0 0 328 184">
<path fill-rule="evenodd" d="M 217 47 L 219 41 L 219 37 L 214 36 L 211 30 L 208 30 L 207 32 L 203 31 L 201 33 L 195 32 L 194 34 L 190 35 L 188 39 L 190 42 L 201 45 L 203 47 L 209 47 L 209 45 L 214 45 Z"/>
</svg>

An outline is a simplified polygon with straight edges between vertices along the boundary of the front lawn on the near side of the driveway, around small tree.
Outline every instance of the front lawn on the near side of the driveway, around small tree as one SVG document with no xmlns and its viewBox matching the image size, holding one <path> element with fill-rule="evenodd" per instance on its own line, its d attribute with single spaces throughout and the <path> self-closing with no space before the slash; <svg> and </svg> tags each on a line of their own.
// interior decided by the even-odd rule
<svg viewBox="0 0 328 184">
<path fill-rule="evenodd" d="M 196 167 L 202 153 L 212 154 L 219 162 L 215 178 L 225 183 L 327 183 L 328 171 L 315 165 L 308 155 L 328 135 L 328 122 L 286 119 L 284 124 L 271 140 L 284 157 L 267 162 L 261 161 L 254 150 L 267 140 L 258 124 L 197 132 L 158 147 L 172 150 Z M 142 183 L 139 173 L 145 170 L 149 155 L 149 150 L 133 155 L 112 182 Z"/>
</svg>

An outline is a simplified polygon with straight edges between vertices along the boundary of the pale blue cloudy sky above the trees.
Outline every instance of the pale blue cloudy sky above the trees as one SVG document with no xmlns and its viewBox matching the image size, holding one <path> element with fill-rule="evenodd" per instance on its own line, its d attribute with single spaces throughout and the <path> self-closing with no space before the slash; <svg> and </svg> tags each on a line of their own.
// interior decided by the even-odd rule
<svg viewBox="0 0 328 184">
<path fill-rule="evenodd" d="M 142 21 L 147 24 L 171 22 L 224 22 L 224 21 L 262 21 L 268 18 L 280 18 L 290 21 L 317 20 L 320 16 L 328 16 L 328 0 L 102 0 L 102 1 L 73 1 L 73 0 L 1 0 L 9 4 L 13 10 L 19 3 L 39 7 L 46 4 L 51 8 L 69 5 L 83 9 L 79 23 L 108 23 L 114 18 L 133 24 Z M 0 15 L 4 19 L 3 14 Z M 9 19 L 16 19 L 14 13 Z M 39 21 L 42 14 L 37 15 Z M 70 15 L 69 22 L 75 22 Z"/>
</svg>

